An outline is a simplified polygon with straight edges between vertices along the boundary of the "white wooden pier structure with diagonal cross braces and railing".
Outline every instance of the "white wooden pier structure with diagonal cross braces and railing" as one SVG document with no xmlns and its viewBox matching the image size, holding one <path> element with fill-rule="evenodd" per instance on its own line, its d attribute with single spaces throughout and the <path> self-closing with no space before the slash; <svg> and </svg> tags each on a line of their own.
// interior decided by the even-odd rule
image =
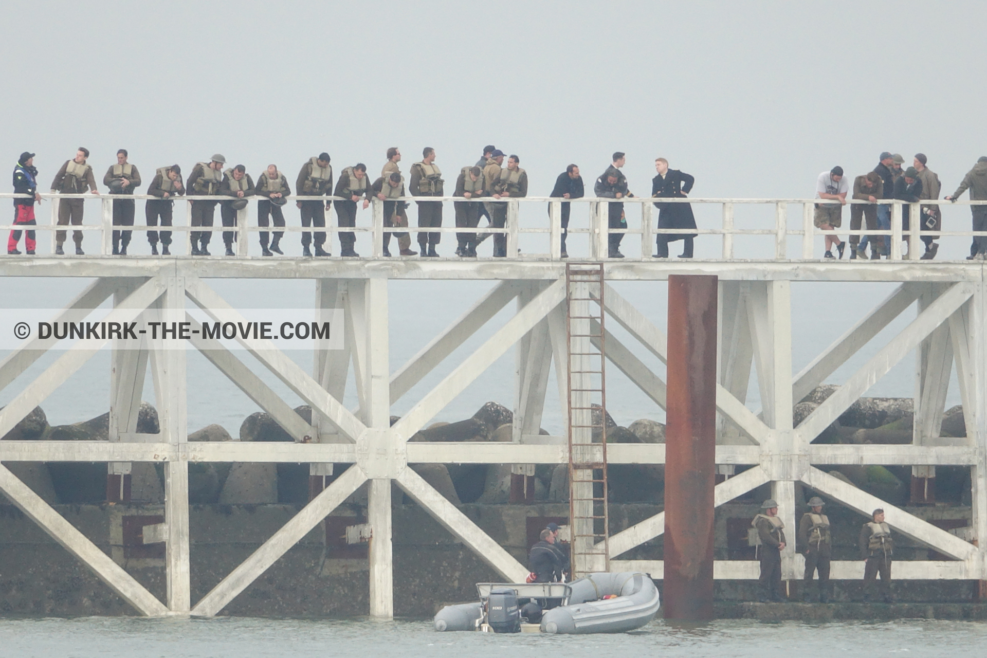
<svg viewBox="0 0 987 658">
<path fill-rule="evenodd" d="M 10 195 L 0 195 L 10 196 Z M 92 198 L 91 195 L 86 195 Z M 131 197 L 132 198 L 132 197 Z M 140 198 L 139 196 L 137 198 Z M 325 197 L 323 197 L 325 198 Z M 448 198 L 446 200 L 451 200 Z M 825 261 L 819 256 L 820 232 L 811 225 L 813 199 L 690 199 L 721 207 L 721 224 L 702 226 L 701 236 L 721 236 L 721 258 L 682 260 L 651 258 L 654 235 L 651 205 L 647 199 L 622 199 L 637 212 L 640 226 L 629 228 L 625 240 L 628 258 L 608 259 L 606 255 L 606 201 L 583 199 L 590 205 L 588 226 L 573 220 L 571 235 L 589 235 L 590 249 L 573 259 L 604 260 L 606 278 L 611 281 L 654 281 L 669 274 L 716 274 L 721 286 L 720 386 L 717 408 L 721 414 L 717 463 L 723 474 L 736 467 L 751 466 L 727 477 L 716 489 L 721 505 L 754 487 L 772 483 L 789 528 L 796 527 L 795 490 L 802 482 L 830 499 L 862 514 L 883 507 L 895 531 L 934 548 L 946 560 L 898 561 L 895 578 L 987 580 L 987 283 L 985 263 L 977 260 L 920 261 L 919 235 L 901 230 L 902 206 L 894 205 L 891 259 L 853 262 Z M 104 197 L 109 208 L 110 197 Z M 78 315 L 80 309 L 93 309 L 113 299 L 114 310 L 108 321 L 131 321 L 148 310 L 161 314 L 166 322 L 184 322 L 187 309 L 202 309 L 214 321 L 244 322 L 215 290 L 209 280 L 216 278 L 312 279 L 316 282 L 313 301 L 316 309 L 342 308 L 345 318 L 343 349 L 315 347 L 313 372 L 306 372 L 270 340 L 238 338 L 247 351 L 231 351 L 217 341 L 192 340 L 236 386 L 268 412 L 295 439 L 295 443 L 189 443 L 186 423 L 186 352 L 166 349 L 156 340 L 145 340 L 139 350 L 114 350 L 110 441 L 55 442 L 2 441 L 2 462 L 107 462 L 111 473 L 127 473 L 132 462 L 160 462 L 166 474 L 166 521 L 158 531 L 166 545 L 167 600 L 159 601 L 123 570 L 114 560 L 78 532 L 28 486 L 0 467 L 0 490 L 30 516 L 59 544 L 76 555 L 140 614 L 148 616 L 213 616 L 260 576 L 279 556 L 318 525 L 334 508 L 364 482 L 369 482 L 367 522 L 372 529 L 369 549 L 370 614 L 393 615 L 393 572 L 391 545 L 391 483 L 396 482 L 442 526 L 467 547 L 483 557 L 509 581 L 523 582 L 527 574 L 505 549 L 499 547 L 461 511 L 432 488 L 408 464 L 565 464 L 569 461 L 566 437 L 537 436 L 545 393 L 549 386 L 560 388 L 560 400 L 567 400 L 565 377 L 550 383 L 549 364 L 566 363 L 565 261 L 560 258 L 559 199 L 514 199 L 510 201 L 508 254 L 517 254 L 519 236 L 540 233 L 546 238 L 544 254 L 510 258 L 384 258 L 381 237 L 385 231 L 382 210 L 375 203 L 372 221 L 357 232 L 373 238 L 371 256 L 364 258 L 231 257 L 199 258 L 182 256 L 184 231 L 175 232 L 179 256 L 107 256 L 110 214 L 87 231 L 102 234 L 100 256 L 0 256 L 0 275 L 80 277 L 95 279 L 63 309 L 57 320 Z M 541 224 L 526 226 L 521 206 L 538 206 Z M 735 228 L 733 210 L 740 204 L 762 206 L 767 218 L 760 228 Z M 966 202 L 965 205 L 968 205 Z M 52 204 L 54 205 L 54 204 Z M 801 226 L 789 227 L 790 208 L 802 207 Z M 959 205 L 959 204 L 957 204 Z M 290 208 L 290 206 L 288 206 Z M 917 211 L 917 208 L 914 209 Z M 906 209 L 905 212 L 908 210 Z M 218 214 L 218 213 L 217 213 Z M 289 211 L 289 224 L 292 213 Z M 532 211 L 531 216 L 535 213 Z M 138 213 L 139 216 L 139 213 Z M 245 211 L 242 217 L 246 219 Z M 444 233 L 450 228 L 447 212 Z M 913 216 L 912 225 L 916 225 Z M 968 220 L 967 220 L 968 221 Z M 243 222 L 242 222 L 243 223 Z M 964 224 L 968 226 L 968 224 Z M 9 229 L 9 225 L 0 229 Z M 23 227 L 18 227 L 23 228 Z M 38 231 L 50 231 L 44 225 Z M 59 227 L 62 228 L 62 227 Z M 64 227 L 73 230 L 75 227 Z M 127 227 L 129 228 L 129 227 Z M 134 227 L 139 231 L 146 227 Z M 272 230 L 266 229 L 266 230 Z M 160 230 L 160 227 L 158 227 Z M 196 228 L 196 230 L 200 230 Z M 216 227 L 215 232 L 222 231 Z M 247 236 L 257 227 L 241 228 L 238 253 L 248 254 Z M 280 229 L 278 229 L 280 230 Z M 348 230 L 348 229 L 347 229 Z M 398 229 L 400 230 L 400 229 Z M 481 231 L 483 232 L 483 227 Z M 301 231 L 297 226 L 288 233 Z M 338 229 L 327 229 L 327 232 Z M 412 227 L 412 231 L 415 228 Z M 432 231 L 432 229 L 429 229 Z M 846 235 L 847 231 L 838 231 Z M 970 236 L 969 231 L 952 235 Z M 761 236 L 774 248 L 772 258 L 743 258 L 734 247 L 737 236 Z M 949 233 L 944 235 L 950 235 Z M 630 248 L 640 236 L 641 256 Z M 790 237 L 801 244 L 797 258 L 788 254 Z M 139 233 L 135 245 L 139 245 Z M 451 236 L 450 236 L 451 237 Z M 718 238 L 700 237 L 698 240 Z M 908 241 L 908 256 L 902 255 L 902 239 Z M 571 241 L 571 238 L 570 238 Z M 91 242 L 91 241 L 90 241 Z M 570 242 L 571 245 L 571 242 Z M 451 249 L 446 246 L 447 251 Z M 483 279 L 497 281 L 493 289 L 447 329 L 444 329 L 408 363 L 395 372 L 388 365 L 388 281 L 391 279 Z M 793 281 L 885 281 L 898 284 L 894 292 L 873 308 L 853 329 L 823 349 L 799 373 L 792 370 L 791 283 Z M 496 329 L 485 342 L 472 341 L 478 329 L 509 304 L 516 313 Z M 645 395 L 664 405 L 662 378 L 649 369 L 638 355 L 650 353 L 665 360 L 665 334 L 612 287 L 607 287 L 605 311 L 608 322 L 616 322 L 633 336 L 622 343 L 607 335 L 607 358 Z M 863 363 L 840 389 L 797 427 L 793 425 L 793 403 L 826 381 L 837 368 L 852 360 L 859 350 L 902 314 L 911 322 Z M 89 358 L 112 340 L 80 340 L 61 355 L 34 381 L 18 382 L 17 395 L 0 410 L 0 436 L 20 422 L 38 403 L 76 372 Z M 457 364 L 430 391 L 418 397 L 411 410 L 390 425 L 391 406 L 409 395 L 421 379 L 443 363 L 455 349 L 474 345 L 472 353 Z M 50 341 L 34 339 L 10 354 L 0 364 L 0 389 L 12 385 L 38 358 L 52 347 Z M 424 443 L 411 442 L 419 429 L 439 413 L 466 386 L 477 379 L 508 350 L 517 354 L 517 381 L 514 403 L 514 442 L 512 443 Z M 825 430 L 873 383 L 884 376 L 907 354 L 916 351 L 915 423 L 912 445 L 816 445 L 812 440 Z M 574 350 L 573 350 L 574 351 Z M 313 409 L 311 425 L 295 414 L 256 377 L 241 358 L 257 359 L 302 401 Z M 751 367 L 756 369 L 762 409 L 748 408 L 747 385 Z M 958 376 L 967 436 L 944 438 L 940 423 L 952 368 Z M 150 368 L 160 417 L 160 434 L 135 431 L 137 408 L 147 368 Z M 358 408 L 342 404 L 349 369 L 355 375 Z M 564 368 L 557 368 L 564 372 Z M 565 412 L 564 412 L 565 414 Z M 613 444 L 610 464 L 663 464 L 664 446 Z M 189 479 L 188 467 L 194 462 L 284 462 L 309 463 L 313 475 L 327 472 L 326 465 L 354 464 L 338 477 L 301 512 L 266 543 L 224 578 L 199 601 L 190 599 Z M 929 476 L 937 466 L 962 466 L 971 470 L 972 526 L 961 539 L 906 511 L 858 489 L 819 467 L 826 465 L 912 466 L 917 474 Z M 658 514 L 609 538 L 611 569 L 640 569 L 661 572 L 661 563 L 622 560 L 631 548 L 659 536 L 664 529 Z M 983 545 L 978 546 L 978 545 Z M 783 553 L 783 577 L 799 578 L 801 556 L 794 543 Z M 863 564 L 838 561 L 833 578 L 858 578 Z M 756 578 L 757 563 L 717 561 L 719 579 Z"/>
</svg>

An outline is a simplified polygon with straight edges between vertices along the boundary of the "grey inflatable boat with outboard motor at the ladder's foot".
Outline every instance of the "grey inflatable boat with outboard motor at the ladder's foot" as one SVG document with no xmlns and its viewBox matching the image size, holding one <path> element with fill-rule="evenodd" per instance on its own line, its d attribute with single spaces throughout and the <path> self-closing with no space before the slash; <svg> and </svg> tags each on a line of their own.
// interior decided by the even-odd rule
<svg viewBox="0 0 987 658">
<path fill-rule="evenodd" d="M 654 619 L 658 590 L 645 573 L 591 573 L 570 583 L 479 583 L 477 603 L 446 606 L 435 630 L 617 633 Z"/>
</svg>

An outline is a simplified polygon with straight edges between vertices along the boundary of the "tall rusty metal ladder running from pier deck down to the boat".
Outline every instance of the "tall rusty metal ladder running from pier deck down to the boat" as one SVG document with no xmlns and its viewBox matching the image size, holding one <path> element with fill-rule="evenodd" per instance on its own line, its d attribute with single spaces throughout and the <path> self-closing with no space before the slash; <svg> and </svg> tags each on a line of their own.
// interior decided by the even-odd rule
<svg viewBox="0 0 987 658">
<path fill-rule="evenodd" d="M 610 570 L 603 278 L 603 263 L 566 264 L 572 578 Z"/>
</svg>

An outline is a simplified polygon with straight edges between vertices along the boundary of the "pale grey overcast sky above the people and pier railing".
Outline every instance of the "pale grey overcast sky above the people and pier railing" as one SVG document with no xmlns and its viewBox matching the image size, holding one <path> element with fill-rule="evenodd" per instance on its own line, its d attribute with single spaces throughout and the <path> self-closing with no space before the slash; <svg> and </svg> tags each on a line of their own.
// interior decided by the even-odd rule
<svg viewBox="0 0 987 658">
<path fill-rule="evenodd" d="M 371 173 L 388 146 L 447 172 L 489 142 L 532 194 L 628 153 L 694 194 L 807 195 L 834 164 L 929 156 L 951 191 L 984 134 L 983 2 L 10 3 L 0 150 L 44 185 L 75 147 L 144 172 L 215 151 L 292 178 L 326 149 Z M 448 178 L 448 177 L 447 177 Z M 297 219 L 297 218 L 295 218 Z"/>
</svg>

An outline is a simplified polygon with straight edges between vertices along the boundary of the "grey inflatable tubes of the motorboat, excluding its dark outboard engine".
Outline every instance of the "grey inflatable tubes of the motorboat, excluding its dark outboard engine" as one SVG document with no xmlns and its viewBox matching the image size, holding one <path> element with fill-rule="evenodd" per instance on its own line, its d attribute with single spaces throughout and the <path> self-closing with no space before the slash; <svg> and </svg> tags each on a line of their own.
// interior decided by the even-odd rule
<svg viewBox="0 0 987 658">
<path fill-rule="evenodd" d="M 435 630 L 482 630 L 486 624 L 484 602 L 493 588 L 514 590 L 520 600 L 555 599 L 541 619 L 545 633 L 615 633 L 634 630 L 654 619 L 658 590 L 645 573 L 592 573 L 571 583 L 480 583 L 478 603 L 446 606 L 435 616 Z M 604 599 L 605 596 L 614 598 Z M 533 626 L 532 626 L 533 629 Z"/>
</svg>

